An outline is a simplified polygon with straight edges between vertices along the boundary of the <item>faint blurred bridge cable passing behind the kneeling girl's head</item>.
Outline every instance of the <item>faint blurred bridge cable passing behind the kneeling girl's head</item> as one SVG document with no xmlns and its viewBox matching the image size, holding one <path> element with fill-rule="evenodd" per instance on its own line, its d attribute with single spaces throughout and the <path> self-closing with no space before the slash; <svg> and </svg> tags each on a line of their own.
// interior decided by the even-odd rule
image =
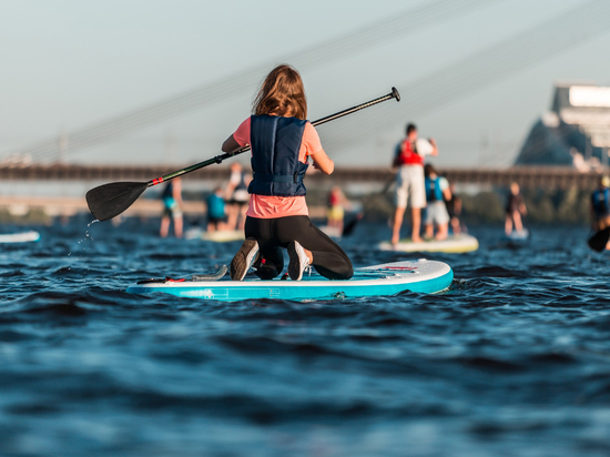
<svg viewBox="0 0 610 457">
<path fill-rule="evenodd" d="M 438 0 L 375 21 L 373 24 L 346 33 L 331 42 L 316 43 L 292 55 L 286 55 L 281 61 L 291 62 L 302 71 L 311 70 L 359 53 L 398 35 L 425 30 L 427 27 L 438 24 L 441 20 L 454 19 L 457 14 L 490 3 L 489 0 Z M 70 153 L 103 141 L 125 136 L 202 105 L 227 100 L 244 91 L 252 91 L 274 64 L 270 62 L 256 65 L 233 77 L 223 78 L 177 97 L 153 103 L 144 109 L 112 118 L 89 128 L 79 129 L 69 135 Z M 18 152 L 29 153 L 37 160 L 43 160 L 57 156 L 59 151 L 58 140 L 53 138 Z"/>
</svg>

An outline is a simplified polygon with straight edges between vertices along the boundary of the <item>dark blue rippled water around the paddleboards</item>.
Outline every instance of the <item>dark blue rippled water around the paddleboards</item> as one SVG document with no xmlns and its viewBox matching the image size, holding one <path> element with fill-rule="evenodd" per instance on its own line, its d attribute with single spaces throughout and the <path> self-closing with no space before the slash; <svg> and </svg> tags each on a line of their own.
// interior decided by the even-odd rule
<svg viewBox="0 0 610 457">
<path fill-rule="evenodd" d="M 2 246 L 0 455 L 610 454 L 610 258 L 584 228 L 512 248 L 471 227 L 478 252 L 427 255 L 455 270 L 443 295 L 233 304 L 124 293 L 240 245 L 156 228 Z M 387 235 L 342 244 L 356 266 L 409 258 L 375 250 Z"/>
</svg>

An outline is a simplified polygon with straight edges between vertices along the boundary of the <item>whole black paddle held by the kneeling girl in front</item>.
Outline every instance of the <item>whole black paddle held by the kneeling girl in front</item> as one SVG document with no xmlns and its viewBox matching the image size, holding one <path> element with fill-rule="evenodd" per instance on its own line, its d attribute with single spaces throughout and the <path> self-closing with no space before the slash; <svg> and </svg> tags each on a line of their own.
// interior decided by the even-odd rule
<svg viewBox="0 0 610 457">
<path fill-rule="evenodd" d="M 347 110 L 339 111 L 338 113 L 327 115 L 326 118 L 318 119 L 317 121 L 312 122 L 312 124 L 322 125 L 326 122 L 334 121 L 335 119 L 343 118 L 344 115 L 355 113 L 356 111 L 364 110 L 365 108 L 369 108 L 392 99 L 396 99 L 398 102 L 400 101 L 400 94 L 396 88 L 392 88 L 392 92 L 387 95 L 379 97 L 378 99 L 370 100 L 366 103 L 362 103 L 356 106 L 348 108 Z M 120 182 L 100 185 L 90 190 L 85 195 L 89 211 L 91 211 L 91 214 L 93 214 L 93 217 L 98 221 L 108 221 L 130 207 L 146 189 L 161 184 L 162 182 L 173 180 L 174 177 L 182 176 L 183 174 L 191 173 L 195 170 L 203 169 L 204 166 L 213 165 L 214 163 L 222 163 L 225 159 L 231 159 L 246 151 L 250 151 L 250 146 L 245 146 L 233 152 L 226 152 L 222 155 L 216 155 L 215 158 L 175 171 L 164 176 L 156 177 L 145 183 Z"/>
</svg>

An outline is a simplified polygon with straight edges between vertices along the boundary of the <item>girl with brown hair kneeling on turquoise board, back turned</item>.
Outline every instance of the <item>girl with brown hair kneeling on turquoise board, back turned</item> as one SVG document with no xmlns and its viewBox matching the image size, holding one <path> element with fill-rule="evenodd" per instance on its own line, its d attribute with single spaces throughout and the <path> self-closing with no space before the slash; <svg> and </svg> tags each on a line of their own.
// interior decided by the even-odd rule
<svg viewBox="0 0 610 457">
<path fill-rule="evenodd" d="M 263 82 L 253 111 L 222 146 L 232 152 L 250 144 L 254 175 L 248 186 L 246 240 L 231 262 L 231 278 L 242 281 L 251 266 L 262 280 L 278 276 L 284 270 L 284 247 L 294 281 L 301 281 L 308 265 L 329 280 L 349 280 L 354 275 L 349 257 L 308 216 L 303 184 L 308 158 L 324 174 L 333 173 L 335 163 L 306 120 L 298 72 L 289 65 L 275 68 Z"/>
</svg>

